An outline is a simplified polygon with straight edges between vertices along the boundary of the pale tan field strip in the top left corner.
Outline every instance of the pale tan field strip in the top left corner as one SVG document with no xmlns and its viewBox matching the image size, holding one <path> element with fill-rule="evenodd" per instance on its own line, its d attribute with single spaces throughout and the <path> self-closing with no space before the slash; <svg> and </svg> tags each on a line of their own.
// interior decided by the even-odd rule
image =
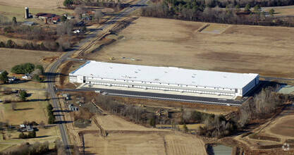
<svg viewBox="0 0 294 155">
<path fill-rule="evenodd" d="M 4 6 L 18 6 L 18 7 L 29 7 L 29 8 L 44 8 L 44 9 L 54 9 L 58 6 L 63 7 L 63 1 L 61 0 L 50 0 L 50 1 L 42 1 L 42 0 L 9 0 L 4 1 L 0 0 L 0 5 Z"/>
</svg>

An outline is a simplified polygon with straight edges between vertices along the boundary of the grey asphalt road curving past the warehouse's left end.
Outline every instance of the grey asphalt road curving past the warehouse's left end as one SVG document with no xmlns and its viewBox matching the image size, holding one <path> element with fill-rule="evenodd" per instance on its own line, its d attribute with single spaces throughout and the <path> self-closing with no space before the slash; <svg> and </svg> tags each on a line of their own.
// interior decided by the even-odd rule
<svg viewBox="0 0 294 155">
<path fill-rule="evenodd" d="M 145 2 L 147 0 L 140 0 L 137 4 L 139 5 L 144 5 Z M 78 50 L 83 44 L 85 44 L 85 42 L 87 42 L 90 39 L 94 39 L 94 37 L 97 36 L 97 34 L 99 32 L 101 32 L 102 30 L 104 30 L 104 28 L 108 27 L 109 25 L 113 24 L 116 22 L 116 20 L 127 16 L 129 13 L 131 13 L 132 11 L 134 11 L 135 9 L 139 8 L 138 6 L 132 7 L 132 8 L 125 8 L 123 11 L 121 11 L 118 15 L 114 16 L 114 18 L 112 18 L 111 20 L 109 20 L 106 24 L 102 25 L 101 27 L 99 27 L 99 29 L 94 30 L 90 35 L 87 35 L 87 37 L 85 37 L 85 39 L 82 39 L 81 42 L 79 42 L 77 45 L 73 46 L 73 48 L 66 52 L 66 54 L 63 54 L 61 57 L 59 57 L 59 59 L 57 59 L 49 68 L 48 70 L 48 74 L 47 74 L 47 82 L 48 82 L 48 91 L 50 93 L 50 97 L 51 97 L 51 101 L 52 104 L 54 106 L 54 114 L 56 115 L 56 120 L 59 126 L 59 130 L 61 132 L 61 140 L 64 144 L 64 146 L 66 147 L 66 154 L 71 154 L 71 149 L 69 149 L 68 147 L 68 137 L 67 137 L 67 131 L 66 131 L 66 126 L 65 126 L 65 121 L 63 119 L 63 116 L 61 116 L 61 112 L 60 112 L 60 107 L 59 107 L 59 101 L 56 97 L 55 94 L 55 87 L 54 87 L 54 79 L 55 79 L 55 75 L 56 75 L 56 69 L 61 65 L 61 63 L 63 61 L 66 60 L 66 58 L 68 58 L 68 56 L 71 56 L 72 54 L 75 53 L 76 50 Z"/>
</svg>

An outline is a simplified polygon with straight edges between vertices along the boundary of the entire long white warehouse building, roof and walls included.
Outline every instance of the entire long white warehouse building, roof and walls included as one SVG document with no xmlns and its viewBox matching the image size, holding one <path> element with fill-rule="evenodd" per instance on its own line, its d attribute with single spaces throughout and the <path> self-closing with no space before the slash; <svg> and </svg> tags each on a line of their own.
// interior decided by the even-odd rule
<svg viewBox="0 0 294 155">
<path fill-rule="evenodd" d="M 257 85 L 259 75 L 87 61 L 69 74 L 69 80 L 93 85 L 125 87 L 125 89 L 133 87 L 243 96 Z"/>
</svg>

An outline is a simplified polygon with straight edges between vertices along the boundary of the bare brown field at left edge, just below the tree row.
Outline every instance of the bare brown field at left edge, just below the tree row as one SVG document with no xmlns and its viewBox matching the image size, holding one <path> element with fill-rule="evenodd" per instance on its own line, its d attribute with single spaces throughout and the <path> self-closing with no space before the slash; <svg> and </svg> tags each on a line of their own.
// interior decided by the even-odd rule
<svg viewBox="0 0 294 155">
<path fill-rule="evenodd" d="M 48 63 L 43 63 L 42 58 L 48 56 L 59 56 L 60 54 L 61 52 L 0 48 L 0 69 L 7 70 L 9 73 L 13 66 L 20 63 L 41 64 L 44 68 L 46 68 Z"/>
</svg>

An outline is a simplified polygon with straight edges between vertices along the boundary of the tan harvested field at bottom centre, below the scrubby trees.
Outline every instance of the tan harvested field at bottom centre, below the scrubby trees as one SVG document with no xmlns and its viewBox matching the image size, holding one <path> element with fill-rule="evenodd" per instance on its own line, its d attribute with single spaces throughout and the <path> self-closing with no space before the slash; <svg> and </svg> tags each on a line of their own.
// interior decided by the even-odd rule
<svg viewBox="0 0 294 155">
<path fill-rule="evenodd" d="M 145 128 L 110 114 L 96 119 L 108 135 L 85 134 L 86 154 L 206 154 L 204 142 L 197 137 Z"/>
</svg>

